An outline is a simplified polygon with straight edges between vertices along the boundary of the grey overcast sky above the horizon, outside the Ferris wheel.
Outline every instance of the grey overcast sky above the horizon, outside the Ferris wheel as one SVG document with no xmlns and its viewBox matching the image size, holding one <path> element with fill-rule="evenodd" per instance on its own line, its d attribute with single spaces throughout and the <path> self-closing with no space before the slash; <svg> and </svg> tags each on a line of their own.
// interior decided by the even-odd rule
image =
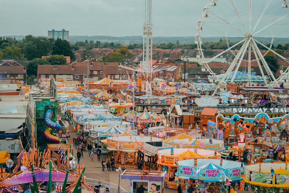
<svg viewBox="0 0 289 193">
<path fill-rule="evenodd" d="M 208 0 L 152 2 L 154 37 L 195 36 Z M 218 8 L 226 10 L 225 6 Z M 143 31 L 143 0 L 5 0 L 0 3 L 0 14 L 0 36 L 47 36 L 52 29 L 68 30 L 70 36 L 142 36 Z"/>
</svg>

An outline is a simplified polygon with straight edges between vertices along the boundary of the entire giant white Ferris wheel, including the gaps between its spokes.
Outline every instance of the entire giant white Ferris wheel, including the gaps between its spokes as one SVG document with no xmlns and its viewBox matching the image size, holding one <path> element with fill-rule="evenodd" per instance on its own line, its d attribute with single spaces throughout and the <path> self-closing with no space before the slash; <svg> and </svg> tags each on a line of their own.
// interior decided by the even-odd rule
<svg viewBox="0 0 289 193">
<path fill-rule="evenodd" d="M 207 71 L 209 81 L 217 84 L 213 95 L 219 88 L 225 88 L 227 82 L 242 82 L 245 86 L 264 83 L 279 87 L 280 82 L 289 79 L 287 67 L 282 68 L 280 77 L 275 78 L 272 69 L 277 70 L 278 66 L 265 60 L 266 55 L 273 54 L 273 58 L 278 59 L 276 62 L 289 63 L 272 46 L 274 38 L 288 37 L 288 7 L 289 0 L 210 0 L 207 3 L 197 23 L 195 44 L 202 71 Z M 205 38 L 207 42 L 219 38 L 222 50 L 208 54 L 205 50 L 214 48 L 202 42 Z M 210 65 L 212 63 L 214 68 Z M 216 69 L 225 66 L 223 71 L 216 73 Z"/>
</svg>

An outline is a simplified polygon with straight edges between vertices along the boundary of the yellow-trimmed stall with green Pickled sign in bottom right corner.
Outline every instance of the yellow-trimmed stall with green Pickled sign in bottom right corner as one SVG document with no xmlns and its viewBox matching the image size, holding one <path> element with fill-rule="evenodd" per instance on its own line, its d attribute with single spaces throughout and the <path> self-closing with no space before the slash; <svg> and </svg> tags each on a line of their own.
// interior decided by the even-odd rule
<svg viewBox="0 0 289 193">
<path fill-rule="evenodd" d="M 246 165 L 244 182 L 252 192 L 288 192 L 289 168 L 287 163 L 257 163 Z"/>
</svg>

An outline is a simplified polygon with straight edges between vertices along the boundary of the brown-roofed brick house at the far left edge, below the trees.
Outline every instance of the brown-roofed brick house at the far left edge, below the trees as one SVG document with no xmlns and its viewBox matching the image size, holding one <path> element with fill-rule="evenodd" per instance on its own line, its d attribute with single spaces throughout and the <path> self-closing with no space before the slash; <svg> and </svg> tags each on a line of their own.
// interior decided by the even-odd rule
<svg viewBox="0 0 289 193">
<path fill-rule="evenodd" d="M 14 60 L 3 60 L 0 64 L 1 83 L 10 83 L 12 80 L 26 82 L 26 66 Z"/>
</svg>

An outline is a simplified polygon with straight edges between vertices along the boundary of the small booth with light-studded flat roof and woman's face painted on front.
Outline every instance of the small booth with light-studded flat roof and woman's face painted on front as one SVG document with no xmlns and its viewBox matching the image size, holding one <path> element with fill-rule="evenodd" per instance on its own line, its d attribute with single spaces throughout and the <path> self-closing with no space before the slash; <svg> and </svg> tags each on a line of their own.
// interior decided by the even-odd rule
<svg viewBox="0 0 289 193">
<path fill-rule="evenodd" d="M 121 179 L 129 179 L 133 193 L 164 193 L 166 171 L 125 170 Z"/>
</svg>

